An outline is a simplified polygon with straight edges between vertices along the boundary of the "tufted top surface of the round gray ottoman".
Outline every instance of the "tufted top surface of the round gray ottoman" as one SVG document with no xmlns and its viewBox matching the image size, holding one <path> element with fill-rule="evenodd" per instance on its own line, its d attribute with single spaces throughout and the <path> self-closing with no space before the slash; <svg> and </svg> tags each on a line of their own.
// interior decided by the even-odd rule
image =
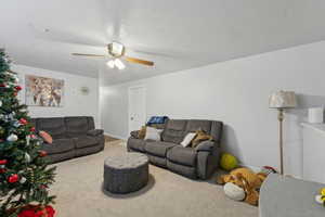
<svg viewBox="0 0 325 217">
<path fill-rule="evenodd" d="M 136 168 L 148 163 L 148 158 L 140 153 L 126 153 L 118 156 L 109 156 L 105 159 L 105 167 L 115 169 Z"/>
</svg>

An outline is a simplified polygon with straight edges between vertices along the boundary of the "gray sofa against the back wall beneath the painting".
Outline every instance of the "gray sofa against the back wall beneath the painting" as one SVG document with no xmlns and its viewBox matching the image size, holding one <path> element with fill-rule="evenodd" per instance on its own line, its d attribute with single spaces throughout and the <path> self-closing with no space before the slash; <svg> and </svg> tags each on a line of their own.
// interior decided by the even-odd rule
<svg viewBox="0 0 325 217">
<path fill-rule="evenodd" d="M 94 128 L 93 117 L 41 117 L 31 119 L 37 131 L 49 132 L 53 143 L 43 143 L 50 163 L 98 153 L 104 150 L 103 130 Z"/>
</svg>

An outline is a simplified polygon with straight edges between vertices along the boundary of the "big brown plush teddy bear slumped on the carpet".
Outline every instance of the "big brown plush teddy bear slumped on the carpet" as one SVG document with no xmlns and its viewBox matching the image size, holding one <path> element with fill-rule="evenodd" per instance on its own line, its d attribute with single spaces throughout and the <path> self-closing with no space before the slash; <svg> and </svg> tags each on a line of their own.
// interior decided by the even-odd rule
<svg viewBox="0 0 325 217">
<path fill-rule="evenodd" d="M 236 168 L 229 175 L 218 177 L 217 183 L 233 183 L 239 187 L 245 192 L 244 201 L 250 205 L 258 205 L 259 189 L 265 178 L 266 175 L 263 173 L 256 174 L 249 168 Z"/>
</svg>

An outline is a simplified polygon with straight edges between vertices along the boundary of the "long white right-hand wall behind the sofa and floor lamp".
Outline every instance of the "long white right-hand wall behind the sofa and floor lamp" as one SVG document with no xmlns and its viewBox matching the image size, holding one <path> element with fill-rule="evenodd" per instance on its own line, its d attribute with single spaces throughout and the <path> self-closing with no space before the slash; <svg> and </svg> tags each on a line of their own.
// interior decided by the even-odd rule
<svg viewBox="0 0 325 217">
<path fill-rule="evenodd" d="M 270 93 L 291 90 L 299 108 L 285 117 L 286 171 L 301 175 L 299 122 L 306 107 L 325 104 L 325 41 L 216 63 L 100 89 L 106 132 L 128 137 L 128 88 L 147 89 L 147 116 L 205 118 L 225 124 L 223 148 L 251 166 L 278 166 L 277 112 Z"/>
</svg>

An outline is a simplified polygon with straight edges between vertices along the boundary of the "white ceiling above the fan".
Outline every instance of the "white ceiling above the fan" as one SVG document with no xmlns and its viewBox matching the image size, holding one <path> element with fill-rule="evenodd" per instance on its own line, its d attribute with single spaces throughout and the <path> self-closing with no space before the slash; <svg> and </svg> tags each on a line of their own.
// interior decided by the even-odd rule
<svg viewBox="0 0 325 217">
<path fill-rule="evenodd" d="M 0 47 L 17 64 L 90 77 L 102 68 L 117 84 L 324 40 L 324 11 L 322 0 L 6 0 Z M 105 54 L 112 40 L 155 67 L 117 72 L 70 55 Z"/>
</svg>

